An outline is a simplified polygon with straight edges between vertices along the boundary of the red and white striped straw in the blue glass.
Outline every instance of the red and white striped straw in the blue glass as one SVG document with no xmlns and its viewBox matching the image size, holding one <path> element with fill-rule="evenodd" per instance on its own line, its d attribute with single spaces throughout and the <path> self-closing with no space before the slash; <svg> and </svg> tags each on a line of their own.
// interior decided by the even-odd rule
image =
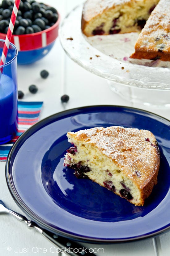
<svg viewBox="0 0 170 256">
<path fill-rule="evenodd" d="M 20 0 L 15 0 L 14 7 L 13 7 L 13 10 L 12 10 L 12 14 L 11 14 L 9 27 L 8 27 L 8 31 L 6 33 L 6 38 L 5 38 L 5 43 L 4 43 L 4 47 L 3 47 L 3 51 L 2 51 L 0 65 L 4 65 L 5 61 L 6 61 L 6 56 L 7 56 L 7 53 L 8 53 L 9 46 L 10 46 L 16 16 L 17 16 L 18 9 L 19 9 L 19 4 L 20 4 Z"/>
</svg>

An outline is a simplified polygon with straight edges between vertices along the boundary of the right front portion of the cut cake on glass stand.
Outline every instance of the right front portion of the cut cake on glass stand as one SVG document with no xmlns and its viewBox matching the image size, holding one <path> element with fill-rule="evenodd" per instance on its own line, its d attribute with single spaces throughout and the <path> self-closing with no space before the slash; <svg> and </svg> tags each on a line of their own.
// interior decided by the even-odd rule
<svg viewBox="0 0 170 256">
<path fill-rule="evenodd" d="M 170 61 L 170 0 L 160 0 L 139 34 L 135 59 Z"/>
</svg>

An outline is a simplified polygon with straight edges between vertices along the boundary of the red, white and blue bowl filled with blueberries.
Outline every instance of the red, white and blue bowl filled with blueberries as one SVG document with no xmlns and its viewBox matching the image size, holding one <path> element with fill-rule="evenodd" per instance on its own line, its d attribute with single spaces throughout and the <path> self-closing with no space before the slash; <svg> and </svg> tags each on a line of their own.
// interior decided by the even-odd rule
<svg viewBox="0 0 170 256">
<path fill-rule="evenodd" d="M 14 0 L 0 3 L 0 39 L 6 38 Z M 19 4 L 11 43 L 18 49 L 18 64 L 31 64 L 46 56 L 58 36 L 60 15 L 54 7 L 35 0 Z"/>
</svg>

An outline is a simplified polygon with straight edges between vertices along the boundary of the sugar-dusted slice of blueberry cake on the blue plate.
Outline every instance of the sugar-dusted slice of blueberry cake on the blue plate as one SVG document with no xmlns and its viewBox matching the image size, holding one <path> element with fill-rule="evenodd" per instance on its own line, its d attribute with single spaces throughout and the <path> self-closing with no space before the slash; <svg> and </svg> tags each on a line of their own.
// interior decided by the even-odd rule
<svg viewBox="0 0 170 256">
<path fill-rule="evenodd" d="M 157 184 L 160 154 L 147 130 L 111 126 L 68 132 L 72 146 L 64 166 L 135 205 L 143 205 Z"/>
</svg>

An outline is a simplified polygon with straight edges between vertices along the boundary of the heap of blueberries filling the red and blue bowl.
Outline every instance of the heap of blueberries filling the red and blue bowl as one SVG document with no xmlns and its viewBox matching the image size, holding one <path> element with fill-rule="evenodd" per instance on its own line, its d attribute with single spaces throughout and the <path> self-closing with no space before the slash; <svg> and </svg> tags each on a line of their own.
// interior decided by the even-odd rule
<svg viewBox="0 0 170 256">
<path fill-rule="evenodd" d="M 14 0 L 2 0 L 0 4 L 0 33 L 8 30 Z M 15 21 L 13 34 L 32 34 L 43 31 L 53 26 L 58 20 L 58 12 L 35 0 L 20 1 L 19 10 Z"/>
</svg>

